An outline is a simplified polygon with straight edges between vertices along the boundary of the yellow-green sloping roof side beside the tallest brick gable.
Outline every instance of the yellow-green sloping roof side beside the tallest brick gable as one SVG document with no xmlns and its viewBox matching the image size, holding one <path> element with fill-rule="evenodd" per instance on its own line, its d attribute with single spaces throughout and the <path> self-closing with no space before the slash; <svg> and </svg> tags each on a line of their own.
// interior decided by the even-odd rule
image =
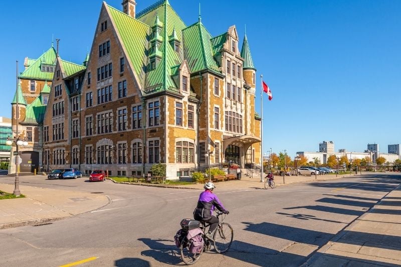
<svg viewBox="0 0 401 267">
<path fill-rule="evenodd" d="M 148 25 L 108 5 L 110 17 L 114 20 L 116 30 L 120 34 L 122 44 L 127 50 L 140 83 L 145 82 L 145 66 L 147 58 L 144 51 L 148 50 L 146 36 L 150 32 Z"/>
</svg>

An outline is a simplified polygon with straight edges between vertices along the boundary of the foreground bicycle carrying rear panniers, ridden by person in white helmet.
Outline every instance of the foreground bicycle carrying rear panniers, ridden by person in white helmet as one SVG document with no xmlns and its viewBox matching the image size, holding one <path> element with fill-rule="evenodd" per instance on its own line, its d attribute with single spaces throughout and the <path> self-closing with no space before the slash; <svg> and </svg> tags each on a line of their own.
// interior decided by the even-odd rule
<svg viewBox="0 0 401 267">
<path fill-rule="evenodd" d="M 227 222 L 223 222 L 226 216 L 221 216 L 223 212 L 217 211 L 217 217 L 219 218 L 219 226 L 216 228 L 216 230 L 212 233 L 213 234 L 213 240 L 209 240 L 205 236 L 205 230 L 208 226 L 210 226 L 210 223 L 201 221 L 199 224 L 199 228 L 202 229 L 203 234 L 202 238 L 204 239 L 204 247 L 196 253 L 191 253 L 188 248 L 188 240 L 186 240 L 186 237 L 184 238 L 183 242 L 181 242 L 181 245 L 179 246 L 179 250 L 181 253 L 181 259 L 185 264 L 190 265 L 195 263 L 196 261 L 199 260 L 200 255 L 202 255 L 203 252 L 207 252 L 211 250 L 212 244 L 215 247 L 215 250 L 218 253 L 225 253 L 227 250 L 229 250 L 233 238 L 234 238 L 234 231 L 233 227 L 231 227 L 230 224 Z"/>
</svg>

